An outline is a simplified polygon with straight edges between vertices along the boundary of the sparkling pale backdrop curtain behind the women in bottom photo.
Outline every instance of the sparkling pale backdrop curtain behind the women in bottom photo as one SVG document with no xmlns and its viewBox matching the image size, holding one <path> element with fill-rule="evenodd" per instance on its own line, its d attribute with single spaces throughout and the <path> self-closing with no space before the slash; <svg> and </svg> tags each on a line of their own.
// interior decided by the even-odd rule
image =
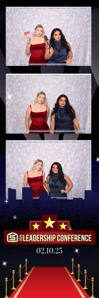
<svg viewBox="0 0 99 298">
<path fill-rule="evenodd" d="M 51 164 L 59 162 L 73 182 L 68 198 L 84 197 L 91 189 L 90 141 L 6 141 L 6 186 L 22 193 L 23 177 L 34 160 L 43 160 L 45 178 Z M 18 198 L 21 198 L 19 195 Z"/>
</svg>

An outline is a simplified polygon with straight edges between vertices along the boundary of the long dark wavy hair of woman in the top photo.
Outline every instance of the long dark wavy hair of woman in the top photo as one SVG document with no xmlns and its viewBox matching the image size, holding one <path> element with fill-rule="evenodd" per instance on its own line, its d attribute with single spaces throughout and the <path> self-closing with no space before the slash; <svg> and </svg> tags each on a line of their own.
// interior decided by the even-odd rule
<svg viewBox="0 0 99 298">
<path fill-rule="evenodd" d="M 54 42 L 54 38 L 53 38 L 53 34 L 55 33 L 55 31 L 59 31 L 60 32 L 60 34 L 61 34 L 61 44 L 62 44 L 63 48 L 66 49 L 66 52 L 68 54 L 68 52 L 70 51 L 70 48 L 67 45 L 67 41 L 65 39 L 65 36 L 63 35 L 62 31 L 59 28 L 55 28 L 51 32 L 51 38 L 50 38 L 51 47 L 54 49 L 54 46 L 55 46 L 55 42 Z"/>
</svg>

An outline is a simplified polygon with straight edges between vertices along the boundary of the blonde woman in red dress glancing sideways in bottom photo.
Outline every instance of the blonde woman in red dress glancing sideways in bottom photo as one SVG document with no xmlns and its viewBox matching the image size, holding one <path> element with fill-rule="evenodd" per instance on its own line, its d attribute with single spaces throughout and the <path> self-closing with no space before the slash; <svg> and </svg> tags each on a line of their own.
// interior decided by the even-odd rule
<svg viewBox="0 0 99 298">
<path fill-rule="evenodd" d="M 44 185 L 44 177 L 45 173 L 42 170 L 43 161 L 41 159 L 36 159 L 34 161 L 33 167 L 31 171 L 27 171 L 24 175 L 24 187 L 27 187 L 27 183 L 29 187 L 33 188 L 33 198 L 39 198 L 41 192 L 47 191 Z M 48 191 L 47 191 L 48 193 Z"/>
</svg>

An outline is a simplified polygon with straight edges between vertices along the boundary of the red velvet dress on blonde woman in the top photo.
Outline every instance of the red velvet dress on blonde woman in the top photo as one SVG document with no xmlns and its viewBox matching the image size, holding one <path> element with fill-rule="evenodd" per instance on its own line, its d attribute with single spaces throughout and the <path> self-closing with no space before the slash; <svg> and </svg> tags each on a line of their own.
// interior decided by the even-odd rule
<svg viewBox="0 0 99 298">
<path fill-rule="evenodd" d="M 44 59 L 45 40 L 43 44 L 31 44 L 30 51 L 31 51 L 31 56 L 29 58 L 29 66 L 33 66 L 33 64 L 38 64 L 38 63 L 41 65 L 46 64 L 46 60 Z"/>
</svg>

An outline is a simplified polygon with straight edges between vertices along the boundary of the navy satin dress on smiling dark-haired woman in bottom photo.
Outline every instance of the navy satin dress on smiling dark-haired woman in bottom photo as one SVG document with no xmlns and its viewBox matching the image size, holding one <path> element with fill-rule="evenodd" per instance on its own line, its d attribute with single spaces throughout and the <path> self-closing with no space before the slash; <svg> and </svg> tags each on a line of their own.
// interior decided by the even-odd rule
<svg viewBox="0 0 99 298">
<path fill-rule="evenodd" d="M 53 173 L 53 175 L 49 176 L 49 188 L 51 192 L 49 192 L 50 197 L 52 198 L 67 198 L 66 193 L 61 193 L 61 189 L 65 190 L 66 185 L 60 182 L 59 175 Z"/>
</svg>

